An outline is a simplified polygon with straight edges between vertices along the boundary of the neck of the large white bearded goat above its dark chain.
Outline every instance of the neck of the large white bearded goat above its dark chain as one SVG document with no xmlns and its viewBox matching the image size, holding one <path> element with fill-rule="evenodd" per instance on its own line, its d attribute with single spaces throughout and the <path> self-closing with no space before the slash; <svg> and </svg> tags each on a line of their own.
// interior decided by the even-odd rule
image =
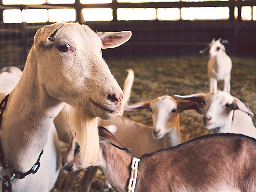
<svg viewBox="0 0 256 192">
<path fill-rule="evenodd" d="M 38 158 L 35 154 L 39 155 L 44 148 L 53 118 L 64 105 L 38 85 L 38 61 L 31 57 L 35 55 L 34 49 L 33 45 L 27 59 L 32 65 L 25 65 L 20 82 L 9 96 L 1 124 L 0 137 L 6 164 L 21 172 L 28 171 L 35 164 Z M 29 116 L 33 118 L 28 120 Z"/>
</svg>

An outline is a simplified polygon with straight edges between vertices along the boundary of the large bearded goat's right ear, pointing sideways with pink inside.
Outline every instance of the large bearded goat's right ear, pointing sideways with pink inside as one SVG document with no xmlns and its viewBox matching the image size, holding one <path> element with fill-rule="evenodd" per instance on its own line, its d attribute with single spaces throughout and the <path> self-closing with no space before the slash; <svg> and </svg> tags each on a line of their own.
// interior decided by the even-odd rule
<svg viewBox="0 0 256 192">
<path fill-rule="evenodd" d="M 102 49 L 118 47 L 128 41 L 131 36 L 131 31 L 121 31 L 121 32 L 106 32 L 97 33 L 100 37 L 102 43 Z"/>
</svg>

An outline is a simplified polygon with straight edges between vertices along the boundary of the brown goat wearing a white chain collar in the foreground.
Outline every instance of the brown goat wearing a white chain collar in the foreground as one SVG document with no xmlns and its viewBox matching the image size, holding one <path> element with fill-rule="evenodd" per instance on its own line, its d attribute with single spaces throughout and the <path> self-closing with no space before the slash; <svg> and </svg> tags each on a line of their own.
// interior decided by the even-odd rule
<svg viewBox="0 0 256 192">
<path fill-rule="evenodd" d="M 127 191 L 134 154 L 103 127 L 95 166 L 118 192 Z M 143 133 L 142 133 L 143 134 Z M 79 156 L 73 140 L 63 156 L 69 168 Z M 241 134 L 209 134 L 140 157 L 135 191 L 256 191 L 256 140 Z M 80 162 L 80 167 L 89 165 Z M 74 170 L 75 171 L 75 170 Z M 135 178 L 136 179 L 136 178 Z"/>
</svg>

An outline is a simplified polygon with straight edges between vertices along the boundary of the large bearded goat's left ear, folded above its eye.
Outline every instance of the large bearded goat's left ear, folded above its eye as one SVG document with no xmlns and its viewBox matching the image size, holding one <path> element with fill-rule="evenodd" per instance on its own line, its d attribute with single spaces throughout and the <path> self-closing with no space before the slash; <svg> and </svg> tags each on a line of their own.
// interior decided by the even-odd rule
<svg viewBox="0 0 256 192">
<path fill-rule="evenodd" d="M 50 44 L 58 34 L 59 29 L 64 25 L 65 23 L 54 23 L 52 25 L 46 25 L 43 28 L 38 29 L 34 37 L 35 46 L 39 48 L 40 45 L 47 46 Z"/>
</svg>

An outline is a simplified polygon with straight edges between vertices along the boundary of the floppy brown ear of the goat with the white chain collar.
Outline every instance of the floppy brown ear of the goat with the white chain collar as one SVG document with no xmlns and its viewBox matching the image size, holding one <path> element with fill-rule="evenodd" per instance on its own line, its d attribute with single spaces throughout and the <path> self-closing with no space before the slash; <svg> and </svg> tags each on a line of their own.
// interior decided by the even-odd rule
<svg viewBox="0 0 256 192">
<path fill-rule="evenodd" d="M 100 140 L 108 140 L 113 146 L 119 149 L 130 150 L 130 148 L 126 147 L 125 145 L 120 143 L 118 140 L 116 140 L 114 135 L 111 132 L 109 132 L 106 128 L 100 126 L 98 129 L 99 129 L 99 135 L 101 137 Z"/>
</svg>

